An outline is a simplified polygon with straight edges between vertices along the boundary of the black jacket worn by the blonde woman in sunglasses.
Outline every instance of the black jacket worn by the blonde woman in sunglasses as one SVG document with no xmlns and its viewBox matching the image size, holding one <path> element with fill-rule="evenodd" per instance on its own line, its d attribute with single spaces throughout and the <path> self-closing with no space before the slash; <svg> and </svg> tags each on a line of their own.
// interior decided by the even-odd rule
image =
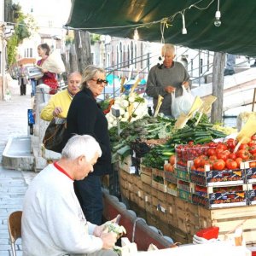
<svg viewBox="0 0 256 256">
<path fill-rule="evenodd" d="M 90 175 L 105 175 L 111 172 L 111 149 L 108 136 L 108 120 L 96 103 L 89 89 L 83 89 L 74 96 L 67 113 L 66 142 L 74 134 L 88 134 L 96 138 L 102 148 L 102 156 Z"/>
</svg>

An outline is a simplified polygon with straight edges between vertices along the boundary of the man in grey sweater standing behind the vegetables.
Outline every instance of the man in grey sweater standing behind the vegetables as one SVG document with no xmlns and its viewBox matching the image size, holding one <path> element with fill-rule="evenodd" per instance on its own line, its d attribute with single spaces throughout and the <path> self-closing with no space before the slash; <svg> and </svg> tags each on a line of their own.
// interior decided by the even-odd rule
<svg viewBox="0 0 256 256">
<path fill-rule="evenodd" d="M 146 93 L 153 97 L 154 110 L 157 106 L 158 96 L 163 96 L 164 100 L 160 107 L 160 113 L 172 116 L 172 92 L 175 96 L 182 95 L 182 85 L 186 89 L 191 85 L 189 73 L 183 64 L 173 61 L 175 58 L 175 48 L 172 44 L 165 44 L 161 52 L 164 58 L 163 64 L 152 67 L 148 73 Z"/>
</svg>

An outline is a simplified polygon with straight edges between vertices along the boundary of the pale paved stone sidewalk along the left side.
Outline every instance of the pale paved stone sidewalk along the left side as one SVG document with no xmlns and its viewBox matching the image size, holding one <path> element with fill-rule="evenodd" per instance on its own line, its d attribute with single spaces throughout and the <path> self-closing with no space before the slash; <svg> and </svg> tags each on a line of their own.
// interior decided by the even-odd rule
<svg viewBox="0 0 256 256">
<path fill-rule="evenodd" d="M 10 212 L 22 210 L 27 184 L 35 172 L 7 170 L 2 166 L 3 149 L 9 137 L 26 136 L 27 109 L 32 108 L 31 86 L 26 87 L 26 96 L 20 96 L 20 86 L 13 80 L 9 86 L 11 100 L 0 101 L 0 255 L 11 256 L 7 219 Z M 22 255 L 21 241 L 17 241 L 17 256 Z"/>
</svg>

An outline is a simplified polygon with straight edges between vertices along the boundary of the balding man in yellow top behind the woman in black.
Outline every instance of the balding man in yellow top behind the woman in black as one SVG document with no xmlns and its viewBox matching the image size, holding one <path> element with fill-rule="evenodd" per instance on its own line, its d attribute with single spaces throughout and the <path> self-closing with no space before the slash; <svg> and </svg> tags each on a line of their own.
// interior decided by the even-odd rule
<svg viewBox="0 0 256 256">
<path fill-rule="evenodd" d="M 41 119 L 45 121 L 50 121 L 54 117 L 66 119 L 73 97 L 80 90 L 81 80 L 82 75 L 79 72 L 71 73 L 67 79 L 67 89 L 58 92 L 50 98 L 49 103 L 41 111 Z"/>
</svg>

